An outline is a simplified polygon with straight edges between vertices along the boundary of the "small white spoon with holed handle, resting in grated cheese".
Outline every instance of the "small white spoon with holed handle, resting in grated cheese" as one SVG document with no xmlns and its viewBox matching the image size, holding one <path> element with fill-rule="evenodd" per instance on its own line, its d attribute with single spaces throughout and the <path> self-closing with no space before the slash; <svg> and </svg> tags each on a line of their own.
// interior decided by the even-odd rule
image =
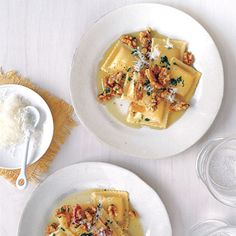
<svg viewBox="0 0 236 236">
<path fill-rule="evenodd" d="M 28 151 L 29 151 L 29 143 L 32 133 L 34 129 L 37 127 L 40 120 L 40 113 L 39 111 L 33 106 L 27 106 L 23 110 L 23 124 L 25 125 L 26 129 L 26 147 L 25 147 L 25 155 L 22 160 L 21 164 L 21 171 L 16 180 L 16 186 L 19 190 L 23 190 L 28 185 L 28 180 L 26 178 L 26 165 L 27 165 L 27 158 L 28 158 Z"/>
</svg>

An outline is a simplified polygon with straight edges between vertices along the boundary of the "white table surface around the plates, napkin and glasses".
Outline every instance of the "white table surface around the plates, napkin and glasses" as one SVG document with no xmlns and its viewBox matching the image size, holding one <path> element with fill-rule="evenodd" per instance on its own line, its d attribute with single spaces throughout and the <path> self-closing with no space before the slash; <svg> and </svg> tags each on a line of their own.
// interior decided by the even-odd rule
<svg viewBox="0 0 236 236">
<path fill-rule="evenodd" d="M 0 0 L 0 65 L 4 70 L 18 70 L 70 102 L 70 66 L 80 37 L 105 13 L 134 2 L 148 1 Z M 174 6 L 192 15 L 206 27 L 219 48 L 225 70 L 225 96 L 213 126 L 196 145 L 180 155 L 142 160 L 100 143 L 79 125 L 62 146 L 48 174 L 81 161 L 106 161 L 125 167 L 158 192 L 167 207 L 174 236 L 185 235 L 193 224 L 209 218 L 236 224 L 236 209 L 217 202 L 195 172 L 196 156 L 204 142 L 236 131 L 236 1 L 152 2 Z M 30 185 L 19 192 L 0 178 L 0 236 L 17 235 L 21 213 L 35 187 Z"/>
</svg>

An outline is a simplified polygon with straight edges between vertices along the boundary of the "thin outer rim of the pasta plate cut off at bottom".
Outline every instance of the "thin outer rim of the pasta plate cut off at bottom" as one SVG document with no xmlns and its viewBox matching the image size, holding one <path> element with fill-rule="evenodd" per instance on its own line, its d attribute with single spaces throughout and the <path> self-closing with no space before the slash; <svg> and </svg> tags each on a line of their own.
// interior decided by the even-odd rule
<svg viewBox="0 0 236 236">
<path fill-rule="evenodd" d="M 142 184 L 144 184 L 150 191 L 152 191 L 153 192 L 153 194 L 155 195 L 155 197 L 157 198 L 157 200 L 160 202 L 160 205 L 162 206 L 162 208 L 163 208 L 163 212 L 165 213 L 165 215 L 166 215 L 166 220 L 167 220 L 167 223 L 168 223 L 168 225 L 169 225 L 169 230 L 170 230 L 170 235 L 172 235 L 172 226 L 171 226 L 171 223 L 170 223 L 170 218 L 169 218 L 169 214 L 168 214 L 168 212 L 167 212 L 167 209 L 166 209 L 166 206 L 164 205 L 164 203 L 163 203 L 163 201 L 161 200 L 161 198 L 160 198 L 160 196 L 158 195 L 158 193 L 149 185 L 149 184 L 147 184 L 142 178 L 140 178 L 137 174 L 135 174 L 134 172 L 132 172 L 132 171 L 130 171 L 130 170 L 128 170 L 128 169 L 126 169 L 126 168 L 123 168 L 123 167 L 120 167 L 120 166 L 117 166 L 117 165 L 113 165 L 113 164 L 110 164 L 110 163 L 107 163 L 107 162 L 96 162 L 96 161 L 88 161 L 88 162 L 79 162 L 79 163 L 75 163 L 75 164 L 72 164 L 72 165 L 69 165 L 69 166 L 66 166 L 66 167 L 63 167 L 63 168 L 61 168 L 61 169 L 58 169 L 58 170 L 56 170 L 55 172 L 53 172 L 52 174 L 50 174 L 49 176 L 47 176 L 46 177 L 46 179 L 42 182 L 42 183 L 40 183 L 35 189 L 34 189 L 34 191 L 31 193 L 31 196 L 30 196 L 30 198 L 28 199 L 28 201 L 27 201 L 27 203 L 26 203 L 26 205 L 25 205 L 25 207 L 24 207 L 24 210 L 23 210 L 23 212 L 22 212 L 22 214 L 21 214 L 21 217 L 20 217 L 20 221 L 19 221 L 19 225 L 18 225 L 18 230 L 17 230 L 17 236 L 19 236 L 19 234 L 20 234 L 20 229 L 21 229 L 21 227 L 22 227 L 22 221 L 23 221 L 23 216 L 24 216 L 24 214 L 25 214 L 25 212 L 26 212 L 26 210 L 27 210 L 27 206 L 28 206 L 28 204 L 32 201 L 32 198 L 33 198 L 33 196 L 34 195 L 37 195 L 37 193 L 40 191 L 40 188 L 41 188 L 41 186 L 43 186 L 43 185 L 45 185 L 45 184 L 47 184 L 47 181 L 49 181 L 51 178 L 53 178 L 54 176 L 56 176 L 60 171 L 63 171 L 63 170 L 65 170 L 65 169 L 69 169 L 69 168 L 72 168 L 72 167 L 75 167 L 75 166 L 84 166 L 84 167 L 86 167 L 86 166 L 88 166 L 88 165 L 90 165 L 90 166 L 105 166 L 105 167 L 107 167 L 107 168 L 115 168 L 115 169 L 117 169 L 117 170 L 119 170 L 120 172 L 123 172 L 123 173 L 127 173 L 127 174 L 129 174 L 130 176 L 133 176 L 134 178 L 136 178 L 137 179 L 137 181 L 138 182 L 140 182 L 140 183 L 142 183 Z"/>
</svg>

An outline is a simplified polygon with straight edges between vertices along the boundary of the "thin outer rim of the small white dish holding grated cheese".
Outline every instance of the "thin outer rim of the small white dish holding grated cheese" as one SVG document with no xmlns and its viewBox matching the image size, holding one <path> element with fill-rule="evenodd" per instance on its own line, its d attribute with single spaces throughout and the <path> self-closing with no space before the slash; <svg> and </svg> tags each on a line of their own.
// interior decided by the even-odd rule
<svg viewBox="0 0 236 236">
<path fill-rule="evenodd" d="M 49 148 L 49 146 L 50 146 L 50 144 L 51 144 L 51 142 L 52 142 L 52 138 L 53 138 L 53 134 L 54 134 L 54 121 L 53 121 L 53 116 L 52 116 L 52 112 L 51 112 L 51 110 L 50 110 L 48 104 L 46 103 L 46 101 L 45 101 L 37 92 L 35 92 L 33 89 L 30 89 L 30 88 L 28 88 L 28 87 L 26 87 L 26 86 L 24 86 L 24 85 L 20 85 L 20 84 L 2 84 L 2 85 L 0 85 L 0 89 L 3 88 L 3 87 L 8 87 L 8 86 L 20 88 L 20 89 L 23 89 L 23 90 L 28 90 L 28 91 L 30 91 L 32 94 L 34 94 L 34 96 L 37 96 L 37 97 L 44 103 L 44 106 L 45 106 L 45 107 L 47 108 L 47 110 L 48 110 L 47 113 L 50 114 L 50 119 L 51 119 L 51 121 L 52 121 L 52 122 L 51 122 L 52 129 L 51 129 L 51 132 L 50 132 L 50 142 L 48 142 L 48 144 L 46 145 L 45 150 L 42 152 L 42 154 L 41 154 L 41 155 L 38 155 L 38 157 L 35 158 L 32 162 L 29 162 L 29 163 L 27 164 L 27 166 L 28 166 L 28 165 L 30 165 L 30 164 L 34 164 L 36 161 L 38 161 L 39 159 L 41 159 L 42 156 L 47 152 L 47 150 L 48 150 L 48 148 Z M 1 167 L 1 166 L 0 166 L 0 168 L 7 169 L 7 170 L 17 170 L 17 169 L 20 169 L 21 167 L 19 166 L 19 167 L 7 167 L 7 168 L 6 168 L 6 167 Z"/>
</svg>

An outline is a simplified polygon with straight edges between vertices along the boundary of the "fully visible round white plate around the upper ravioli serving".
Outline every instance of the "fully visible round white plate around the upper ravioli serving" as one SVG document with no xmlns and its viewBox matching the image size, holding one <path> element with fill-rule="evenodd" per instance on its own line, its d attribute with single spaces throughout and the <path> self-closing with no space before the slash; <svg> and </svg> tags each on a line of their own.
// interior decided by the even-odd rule
<svg viewBox="0 0 236 236">
<path fill-rule="evenodd" d="M 96 73 L 104 52 L 120 35 L 148 26 L 170 38 L 187 41 L 196 58 L 194 66 L 202 72 L 191 107 L 165 130 L 125 126 L 96 101 Z M 96 22 L 75 53 L 70 84 L 72 102 L 82 123 L 107 144 L 143 158 L 171 156 L 196 143 L 218 113 L 223 87 L 221 58 L 207 31 L 186 13 L 152 3 L 117 9 Z"/>
</svg>

